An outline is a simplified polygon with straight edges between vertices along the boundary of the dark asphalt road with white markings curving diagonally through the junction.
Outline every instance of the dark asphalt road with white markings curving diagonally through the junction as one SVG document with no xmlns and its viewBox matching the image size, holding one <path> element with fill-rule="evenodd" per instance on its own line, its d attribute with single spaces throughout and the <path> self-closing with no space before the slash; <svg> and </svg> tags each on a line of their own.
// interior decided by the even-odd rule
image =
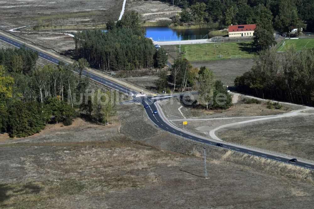
<svg viewBox="0 0 314 209">
<path fill-rule="evenodd" d="M 11 40 L 11 39 L 8 39 L 4 36 L 1 36 L 0 35 L 0 40 L 2 41 L 5 41 L 13 46 L 16 46 L 16 47 L 21 47 L 22 44 L 19 43 L 19 42 L 16 42 L 14 40 Z M 27 49 L 31 49 L 33 51 L 36 51 L 35 49 L 32 49 L 30 47 L 25 47 Z M 42 53 L 42 52 L 38 52 L 38 55 L 43 58 L 43 59 L 46 59 L 52 63 L 55 63 L 55 64 L 59 64 L 59 62 L 62 62 L 50 55 L 47 55 L 45 53 Z M 68 64 L 68 63 L 66 63 Z M 116 89 L 118 91 L 121 91 L 125 94 L 138 94 L 138 92 L 135 92 L 135 91 L 132 91 L 126 87 L 123 87 L 119 84 L 116 84 L 112 81 L 109 81 L 105 78 L 101 78 L 99 76 L 96 76 L 95 74 L 92 74 L 90 72 L 86 72 L 84 71 L 83 72 L 84 75 L 89 75 L 90 79 L 92 80 L 95 80 L 99 83 L 102 83 L 110 88 L 113 88 L 113 89 Z M 173 95 L 173 96 L 178 96 L 178 95 Z M 141 103 L 143 105 L 143 107 L 145 105 L 149 105 L 148 108 L 144 108 L 149 119 L 157 126 L 159 127 L 160 129 L 164 130 L 164 131 L 168 131 L 172 134 L 175 134 L 179 137 L 183 137 L 183 138 L 186 138 L 188 140 L 191 140 L 191 141 L 195 141 L 195 142 L 199 142 L 199 143 L 203 143 L 203 144 L 207 144 L 207 145 L 212 145 L 212 146 L 216 146 L 217 144 L 217 141 L 215 140 L 210 140 L 210 139 L 207 139 L 207 138 L 204 138 L 204 137 L 198 137 L 192 133 L 189 133 L 187 131 L 184 131 L 184 130 L 181 130 L 177 127 L 175 127 L 174 125 L 171 125 L 169 121 L 167 121 L 167 119 L 165 118 L 165 116 L 163 114 L 154 114 L 153 111 L 154 110 L 157 110 L 157 107 L 155 105 L 155 102 L 157 100 L 163 100 L 163 99 L 167 99 L 169 97 L 160 97 L 160 98 L 156 98 L 156 97 L 152 97 L 152 96 L 141 96 L 141 97 L 133 97 L 133 100 L 129 101 L 129 102 L 134 102 L 134 101 L 138 101 L 139 103 Z M 290 158 L 286 158 L 286 157 L 282 157 L 282 156 L 276 156 L 274 154 L 268 154 L 268 153 L 264 153 L 264 152 L 261 152 L 261 151 L 256 151 L 256 150 L 252 150 L 252 149 L 249 149 L 249 148 L 244 148 L 244 147 L 239 147 L 239 146 L 234 146 L 232 144 L 228 144 L 228 143 L 224 143 L 222 142 L 224 145 L 223 147 L 220 147 L 220 148 L 224 148 L 224 149 L 228 149 L 228 150 L 233 150 L 233 151 L 236 151 L 236 152 L 241 152 L 241 153 L 245 153 L 245 154 L 248 154 L 248 155 L 252 155 L 252 156 L 258 156 L 258 157 L 261 157 L 261 158 L 267 158 L 267 159 L 271 159 L 271 160 L 275 160 L 275 161 L 279 161 L 279 162 L 282 162 L 282 163 L 288 163 L 288 164 L 291 164 L 291 165 L 295 165 L 295 166 L 299 166 L 299 167 L 303 167 L 303 168 L 306 168 L 306 169 L 314 169 L 314 164 L 311 164 L 311 163 L 307 163 L 307 162 L 290 162 Z M 218 147 L 218 146 L 217 146 Z"/>
</svg>

